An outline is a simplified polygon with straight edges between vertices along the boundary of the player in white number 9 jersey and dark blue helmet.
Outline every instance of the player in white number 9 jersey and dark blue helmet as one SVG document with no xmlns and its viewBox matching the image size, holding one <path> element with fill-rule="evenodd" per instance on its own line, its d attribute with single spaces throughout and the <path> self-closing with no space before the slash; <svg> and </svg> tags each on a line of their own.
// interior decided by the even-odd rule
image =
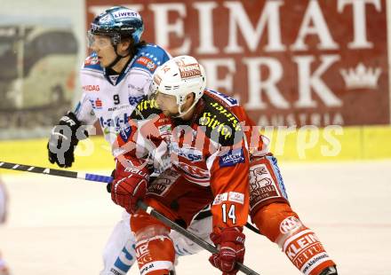
<svg viewBox="0 0 391 275">
<path fill-rule="evenodd" d="M 171 58 L 159 46 L 140 41 L 144 24 L 139 12 L 112 7 L 98 15 L 88 31 L 92 55 L 85 59 L 80 79 L 83 95 L 74 112 L 68 112 L 55 126 L 48 143 L 49 161 L 69 168 L 75 161 L 79 140 L 87 138 L 87 125 L 99 121 L 110 145 L 128 122 L 128 117 L 148 94 L 156 67 Z M 189 230 L 208 238 L 211 217 L 203 218 Z M 122 275 L 136 261 L 130 216 L 124 212 L 103 252 L 102 275 Z M 173 233 L 178 255 L 194 254 L 201 248 Z"/>
</svg>

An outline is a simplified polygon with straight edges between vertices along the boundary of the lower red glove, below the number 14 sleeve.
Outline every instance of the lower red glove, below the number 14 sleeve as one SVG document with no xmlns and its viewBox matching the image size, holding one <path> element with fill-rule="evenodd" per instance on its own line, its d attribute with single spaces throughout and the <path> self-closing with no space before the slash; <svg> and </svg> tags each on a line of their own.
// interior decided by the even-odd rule
<svg viewBox="0 0 391 275">
<path fill-rule="evenodd" d="M 239 227 L 227 227 L 220 234 L 211 233 L 211 241 L 219 253 L 211 255 L 209 262 L 223 271 L 223 275 L 235 275 L 238 271 L 235 263 L 243 263 L 245 236 L 242 231 Z"/>
</svg>

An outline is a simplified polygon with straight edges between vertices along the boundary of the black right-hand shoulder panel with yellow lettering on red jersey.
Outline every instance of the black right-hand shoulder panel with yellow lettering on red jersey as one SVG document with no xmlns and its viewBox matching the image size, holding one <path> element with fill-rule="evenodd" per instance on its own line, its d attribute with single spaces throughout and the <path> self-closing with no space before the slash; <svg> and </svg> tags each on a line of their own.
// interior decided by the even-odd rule
<svg viewBox="0 0 391 275">
<path fill-rule="evenodd" d="M 205 107 L 198 124 L 206 127 L 206 136 L 220 145 L 235 145 L 243 138 L 243 130 L 235 114 L 228 106 L 208 94 L 203 95 L 203 100 Z M 217 135 L 219 140 L 216 138 Z"/>
</svg>

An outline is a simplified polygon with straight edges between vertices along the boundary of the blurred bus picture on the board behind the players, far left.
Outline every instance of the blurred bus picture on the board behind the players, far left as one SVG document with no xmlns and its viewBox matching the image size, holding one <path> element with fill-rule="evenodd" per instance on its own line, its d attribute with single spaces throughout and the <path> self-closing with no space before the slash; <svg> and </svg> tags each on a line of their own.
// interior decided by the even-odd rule
<svg viewBox="0 0 391 275">
<path fill-rule="evenodd" d="M 72 103 L 76 69 L 70 27 L 0 26 L 0 129 L 52 125 Z"/>
</svg>

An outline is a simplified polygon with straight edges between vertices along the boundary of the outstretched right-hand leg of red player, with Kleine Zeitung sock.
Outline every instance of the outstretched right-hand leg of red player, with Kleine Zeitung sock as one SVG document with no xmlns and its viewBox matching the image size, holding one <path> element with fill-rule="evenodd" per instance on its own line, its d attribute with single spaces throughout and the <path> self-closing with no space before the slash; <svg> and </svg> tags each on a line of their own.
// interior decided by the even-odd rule
<svg viewBox="0 0 391 275">
<path fill-rule="evenodd" d="M 273 155 L 251 161 L 251 220 L 267 239 L 275 242 L 299 271 L 319 275 L 335 265 L 319 238 L 291 209 L 283 177 Z"/>
</svg>

